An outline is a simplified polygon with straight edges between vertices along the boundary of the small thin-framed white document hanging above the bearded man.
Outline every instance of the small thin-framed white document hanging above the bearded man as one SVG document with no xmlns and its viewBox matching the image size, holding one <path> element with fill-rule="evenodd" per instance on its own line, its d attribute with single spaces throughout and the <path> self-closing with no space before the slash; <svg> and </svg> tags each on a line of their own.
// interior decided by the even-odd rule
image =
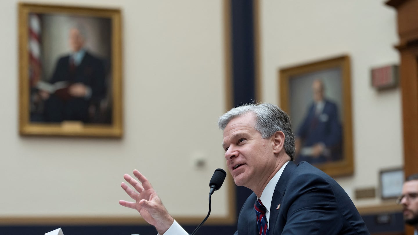
<svg viewBox="0 0 418 235">
<path fill-rule="evenodd" d="M 382 199 L 394 199 L 402 194 L 403 169 L 385 169 L 380 171 L 380 196 Z"/>
</svg>

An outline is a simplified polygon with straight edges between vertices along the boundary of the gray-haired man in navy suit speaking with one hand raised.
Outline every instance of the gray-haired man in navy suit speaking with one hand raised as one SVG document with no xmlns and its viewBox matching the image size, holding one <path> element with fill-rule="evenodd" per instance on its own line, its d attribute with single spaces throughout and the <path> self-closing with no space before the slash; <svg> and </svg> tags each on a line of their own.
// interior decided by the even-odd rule
<svg viewBox="0 0 418 235">
<path fill-rule="evenodd" d="M 307 162 L 293 163 L 294 135 L 288 115 L 269 103 L 235 107 L 219 118 L 222 147 L 235 184 L 253 191 L 241 209 L 236 235 L 368 235 L 344 189 Z M 122 189 L 159 234 L 184 234 L 148 180 L 135 170 Z"/>
</svg>

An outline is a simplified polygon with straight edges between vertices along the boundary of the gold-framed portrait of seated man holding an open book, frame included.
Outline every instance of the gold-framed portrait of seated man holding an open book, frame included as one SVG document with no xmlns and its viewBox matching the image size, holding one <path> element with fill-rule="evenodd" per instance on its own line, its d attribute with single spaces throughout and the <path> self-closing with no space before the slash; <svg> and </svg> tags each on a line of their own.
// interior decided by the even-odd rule
<svg viewBox="0 0 418 235">
<path fill-rule="evenodd" d="M 121 137 L 120 10 L 18 9 L 20 134 Z"/>
</svg>

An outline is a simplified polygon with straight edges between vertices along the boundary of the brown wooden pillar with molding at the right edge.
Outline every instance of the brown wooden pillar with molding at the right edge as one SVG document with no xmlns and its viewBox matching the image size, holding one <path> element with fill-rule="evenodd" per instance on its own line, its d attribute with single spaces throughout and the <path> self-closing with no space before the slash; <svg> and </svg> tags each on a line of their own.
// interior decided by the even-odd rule
<svg viewBox="0 0 418 235">
<path fill-rule="evenodd" d="M 418 173 L 418 0 L 386 2 L 398 12 L 405 176 Z M 405 235 L 413 229 L 405 226 Z"/>
</svg>

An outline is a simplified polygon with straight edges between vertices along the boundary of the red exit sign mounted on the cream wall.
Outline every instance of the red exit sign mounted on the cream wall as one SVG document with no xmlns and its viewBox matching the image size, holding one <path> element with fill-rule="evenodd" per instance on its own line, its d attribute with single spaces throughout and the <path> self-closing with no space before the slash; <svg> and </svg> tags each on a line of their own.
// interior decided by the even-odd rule
<svg viewBox="0 0 418 235">
<path fill-rule="evenodd" d="M 398 85 L 398 78 L 398 65 L 389 65 L 372 69 L 372 86 L 377 89 L 396 87 Z"/>
</svg>

